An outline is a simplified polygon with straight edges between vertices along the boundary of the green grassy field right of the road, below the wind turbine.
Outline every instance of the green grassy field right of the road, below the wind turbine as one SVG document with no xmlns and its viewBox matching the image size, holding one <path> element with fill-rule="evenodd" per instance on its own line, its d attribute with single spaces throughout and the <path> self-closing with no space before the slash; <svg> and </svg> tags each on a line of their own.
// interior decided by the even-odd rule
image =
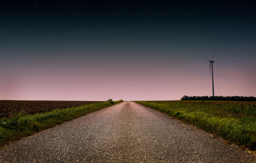
<svg viewBox="0 0 256 163">
<path fill-rule="evenodd" d="M 256 102 L 135 101 L 223 139 L 256 149 Z"/>
</svg>

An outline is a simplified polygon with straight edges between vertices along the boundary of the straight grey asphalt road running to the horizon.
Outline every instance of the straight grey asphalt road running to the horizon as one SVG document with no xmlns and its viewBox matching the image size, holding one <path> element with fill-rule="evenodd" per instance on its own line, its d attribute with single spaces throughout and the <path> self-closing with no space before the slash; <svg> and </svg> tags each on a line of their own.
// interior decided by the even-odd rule
<svg viewBox="0 0 256 163">
<path fill-rule="evenodd" d="M 2 147 L 0 162 L 255 163 L 256 157 L 163 113 L 123 102 Z"/>
</svg>

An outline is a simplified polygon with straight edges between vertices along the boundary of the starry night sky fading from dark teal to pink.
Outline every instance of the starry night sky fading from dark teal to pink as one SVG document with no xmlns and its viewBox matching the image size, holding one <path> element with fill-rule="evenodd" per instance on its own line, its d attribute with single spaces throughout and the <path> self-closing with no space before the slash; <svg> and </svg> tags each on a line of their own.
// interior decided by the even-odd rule
<svg viewBox="0 0 256 163">
<path fill-rule="evenodd" d="M 0 2 L 0 100 L 256 97 L 256 5 Z"/>
</svg>

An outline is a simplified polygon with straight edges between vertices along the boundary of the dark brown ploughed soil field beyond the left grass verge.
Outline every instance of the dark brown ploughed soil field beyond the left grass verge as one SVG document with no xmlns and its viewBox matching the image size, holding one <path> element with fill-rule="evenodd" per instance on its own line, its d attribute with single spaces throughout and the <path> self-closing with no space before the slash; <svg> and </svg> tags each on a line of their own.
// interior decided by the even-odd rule
<svg viewBox="0 0 256 163">
<path fill-rule="evenodd" d="M 22 100 L 0 100 L 0 119 L 8 118 L 19 112 L 34 114 L 51 111 L 57 108 L 81 106 L 104 101 L 22 101 Z"/>
</svg>

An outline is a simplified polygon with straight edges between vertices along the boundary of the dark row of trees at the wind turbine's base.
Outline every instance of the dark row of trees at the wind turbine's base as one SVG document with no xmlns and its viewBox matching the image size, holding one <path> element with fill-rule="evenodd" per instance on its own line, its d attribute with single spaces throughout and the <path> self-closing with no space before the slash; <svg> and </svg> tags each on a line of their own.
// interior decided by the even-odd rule
<svg viewBox="0 0 256 163">
<path fill-rule="evenodd" d="M 181 100 L 223 100 L 223 101 L 256 101 L 256 97 L 250 96 L 183 96 Z"/>
</svg>

